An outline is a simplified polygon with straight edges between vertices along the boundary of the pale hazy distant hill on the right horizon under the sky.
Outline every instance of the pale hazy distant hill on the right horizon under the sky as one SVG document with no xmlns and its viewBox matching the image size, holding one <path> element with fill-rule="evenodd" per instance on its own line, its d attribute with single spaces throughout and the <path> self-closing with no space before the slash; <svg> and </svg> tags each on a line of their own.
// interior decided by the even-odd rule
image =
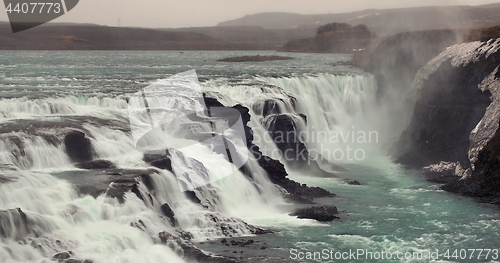
<svg viewBox="0 0 500 263">
<path fill-rule="evenodd" d="M 488 27 L 500 24 L 500 3 L 484 6 L 429 6 L 370 9 L 340 14 L 260 13 L 217 26 L 260 26 L 264 29 L 311 28 L 331 22 L 365 24 L 379 36 L 436 28 Z"/>
</svg>

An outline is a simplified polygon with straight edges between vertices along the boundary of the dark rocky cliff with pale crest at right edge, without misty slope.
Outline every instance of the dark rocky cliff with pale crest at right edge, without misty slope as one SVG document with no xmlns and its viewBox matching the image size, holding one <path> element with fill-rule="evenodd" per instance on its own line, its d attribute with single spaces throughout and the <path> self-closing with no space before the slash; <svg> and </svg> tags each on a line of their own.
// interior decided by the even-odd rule
<svg viewBox="0 0 500 263">
<path fill-rule="evenodd" d="M 442 173 L 444 189 L 497 202 L 500 120 L 500 39 L 457 44 L 422 67 L 408 91 L 417 96 L 410 126 L 396 148 L 397 161 Z"/>
</svg>

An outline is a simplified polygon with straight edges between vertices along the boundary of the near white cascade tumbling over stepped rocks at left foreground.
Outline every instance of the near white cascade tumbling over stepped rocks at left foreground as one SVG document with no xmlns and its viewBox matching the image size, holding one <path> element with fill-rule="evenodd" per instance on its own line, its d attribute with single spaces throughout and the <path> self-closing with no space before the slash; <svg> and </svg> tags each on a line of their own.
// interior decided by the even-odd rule
<svg viewBox="0 0 500 263">
<path fill-rule="evenodd" d="M 182 230 L 199 241 L 252 235 L 258 228 L 248 223 L 286 215 L 277 209 L 283 204 L 280 191 L 253 157 L 246 164 L 250 178 L 202 144 L 173 150 L 185 161 L 177 168 L 211 178 L 228 176 L 182 192 L 177 173 L 152 167 L 137 150 L 127 98 L 0 100 L 2 262 L 44 262 L 68 251 L 71 258 L 93 262 L 183 262 L 182 248 L 170 243 L 171 249 L 165 247 L 162 243 L 169 241 L 161 233 L 175 236 Z M 65 135 L 74 130 L 86 134 L 93 159 L 111 161 L 118 169 L 76 168 L 64 145 Z M 148 139 L 182 148 L 189 140 L 176 132 Z M 238 152 L 251 156 L 246 147 L 232 142 Z M 126 179 L 128 174 L 140 176 Z M 110 196 L 121 182 L 109 184 L 97 196 L 81 193 L 81 185 L 116 175 L 137 184 L 137 191 L 125 191 L 123 203 Z"/>
</svg>

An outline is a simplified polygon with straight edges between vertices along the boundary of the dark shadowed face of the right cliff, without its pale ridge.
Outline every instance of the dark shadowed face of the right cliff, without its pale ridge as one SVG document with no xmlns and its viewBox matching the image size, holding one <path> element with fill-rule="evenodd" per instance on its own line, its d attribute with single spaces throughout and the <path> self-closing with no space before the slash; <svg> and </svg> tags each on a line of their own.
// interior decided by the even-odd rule
<svg viewBox="0 0 500 263">
<path fill-rule="evenodd" d="M 422 168 L 440 161 L 460 162 L 470 167 L 469 136 L 490 105 L 491 94 L 478 85 L 498 66 L 491 56 L 465 67 L 445 62 L 422 87 L 410 126 L 396 147 L 397 161 Z"/>
</svg>

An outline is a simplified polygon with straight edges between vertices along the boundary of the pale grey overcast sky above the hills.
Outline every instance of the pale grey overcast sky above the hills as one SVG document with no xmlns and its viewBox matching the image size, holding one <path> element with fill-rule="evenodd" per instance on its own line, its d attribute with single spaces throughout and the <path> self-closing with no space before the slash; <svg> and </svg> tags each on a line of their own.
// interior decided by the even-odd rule
<svg viewBox="0 0 500 263">
<path fill-rule="evenodd" d="M 480 5 L 500 0 L 80 0 L 53 22 L 138 27 L 215 26 L 261 12 L 325 14 L 376 8 L 430 5 Z M 7 21 L 0 12 L 0 21 Z"/>
</svg>

